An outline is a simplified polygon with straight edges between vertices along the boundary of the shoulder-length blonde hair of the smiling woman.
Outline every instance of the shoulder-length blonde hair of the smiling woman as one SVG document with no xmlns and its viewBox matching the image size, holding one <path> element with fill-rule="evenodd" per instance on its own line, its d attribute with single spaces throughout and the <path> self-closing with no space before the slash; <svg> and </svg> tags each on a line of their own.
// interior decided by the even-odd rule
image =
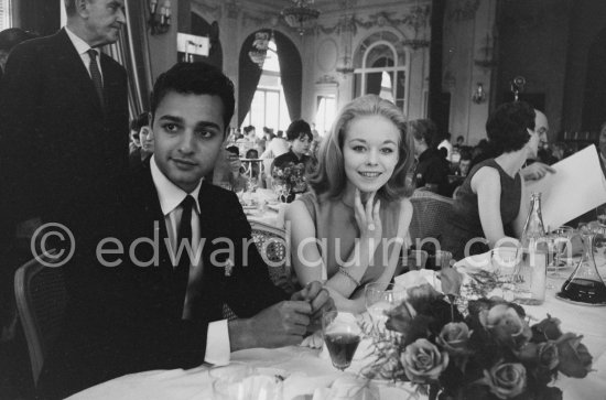
<svg viewBox="0 0 606 400">
<path fill-rule="evenodd" d="M 347 177 L 343 161 L 343 144 L 349 123 L 357 117 L 382 116 L 393 122 L 400 131 L 398 163 L 389 181 L 377 192 L 388 202 L 409 196 L 407 174 L 414 161 L 412 137 L 407 131 L 407 119 L 391 101 L 376 95 L 358 97 L 347 104 L 338 113 L 328 137 L 322 141 L 318 165 L 309 182 L 317 195 L 339 198 L 345 190 Z"/>
</svg>

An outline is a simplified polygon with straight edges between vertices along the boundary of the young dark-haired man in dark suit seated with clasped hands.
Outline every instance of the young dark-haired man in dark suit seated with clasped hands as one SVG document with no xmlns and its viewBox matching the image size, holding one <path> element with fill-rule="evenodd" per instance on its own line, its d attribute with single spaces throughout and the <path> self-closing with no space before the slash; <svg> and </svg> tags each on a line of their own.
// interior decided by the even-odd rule
<svg viewBox="0 0 606 400">
<path fill-rule="evenodd" d="M 149 166 L 130 176 L 108 212 L 95 210 L 97 220 L 73 226 L 84 244 L 63 267 L 71 302 L 64 335 L 43 368 L 44 394 L 297 344 L 333 307 L 318 282 L 291 296 L 274 287 L 237 196 L 203 180 L 234 102 L 231 82 L 209 65 L 177 64 L 158 78 Z M 187 244 L 191 257 L 178 257 Z M 224 320 L 224 304 L 239 318 Z"/>
</svg>

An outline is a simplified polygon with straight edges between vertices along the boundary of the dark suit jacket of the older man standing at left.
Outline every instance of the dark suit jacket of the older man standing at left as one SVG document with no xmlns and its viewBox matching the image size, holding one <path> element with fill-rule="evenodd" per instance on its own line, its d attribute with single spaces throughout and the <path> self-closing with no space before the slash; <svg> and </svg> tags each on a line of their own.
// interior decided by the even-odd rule
<svg viewBox="0 0 606 400">
<path fill-rule="evenodd" d="M 0 85 L 0 194 L 10 221 L 50 220 L 75 190 L 127 169 L 127 74 L 102 53 L 100 65 L 104 107 L 65 30 L 11 52 Z"/>
</svg>

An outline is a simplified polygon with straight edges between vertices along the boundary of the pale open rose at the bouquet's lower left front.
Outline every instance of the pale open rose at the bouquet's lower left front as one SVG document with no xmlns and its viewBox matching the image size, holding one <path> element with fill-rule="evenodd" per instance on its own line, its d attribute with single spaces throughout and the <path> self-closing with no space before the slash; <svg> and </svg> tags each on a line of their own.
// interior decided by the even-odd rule
<svg viewBox="0 0 606 400">
<path fill-rule="evenodd" d="M 448 365 L 448 354 L 440 352 L 430 340 L 420 338 L 407 346 L 401 356 L 407 377 L 415 383 L 437 380 Z"/>
</svg>

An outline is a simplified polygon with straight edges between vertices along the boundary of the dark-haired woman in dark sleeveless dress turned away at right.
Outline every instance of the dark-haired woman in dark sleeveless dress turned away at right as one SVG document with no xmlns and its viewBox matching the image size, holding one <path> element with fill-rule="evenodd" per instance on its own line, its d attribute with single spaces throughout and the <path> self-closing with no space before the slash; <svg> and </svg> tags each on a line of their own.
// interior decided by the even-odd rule
<svg viewBox="0 0 606 400">
<path fill-rule="evenodd" d="M 506 102 L 488 117 L 486 132 L 499 155 L 475 165 L 457 192 L 442 238 L 454 259 L 486 252 L 506 237 L 520 238 L 529 205 L 520 170 L 544 140 L 535 118 L 524 101 Z"/>
</svg>

